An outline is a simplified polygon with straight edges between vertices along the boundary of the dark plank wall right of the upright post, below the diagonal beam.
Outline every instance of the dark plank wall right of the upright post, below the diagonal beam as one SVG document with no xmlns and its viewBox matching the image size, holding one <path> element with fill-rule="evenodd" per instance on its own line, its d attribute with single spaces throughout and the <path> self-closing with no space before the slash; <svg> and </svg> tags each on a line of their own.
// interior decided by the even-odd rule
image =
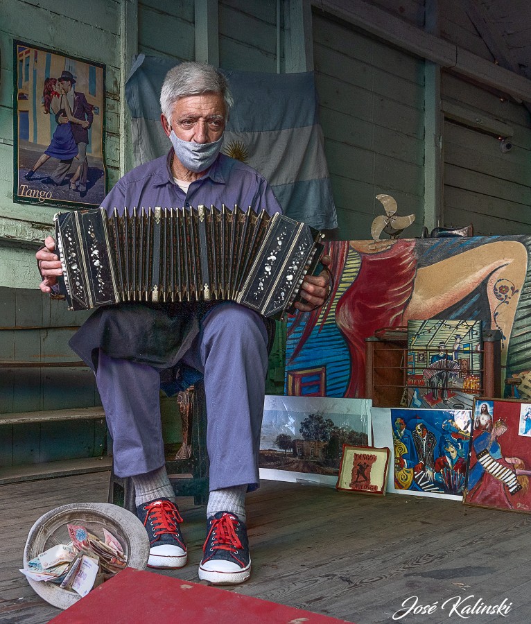
<svg viewBox="0 0 531 624">
<path fill-rule="evenodd" d="M 528 110 L 443 73 L 442 98 L 514 129 L 512 150 L 483 132 L 444 123 L 444 225 L 473 223 L 480 236 L 530 234 L 531 128 Z"/>
</svg>

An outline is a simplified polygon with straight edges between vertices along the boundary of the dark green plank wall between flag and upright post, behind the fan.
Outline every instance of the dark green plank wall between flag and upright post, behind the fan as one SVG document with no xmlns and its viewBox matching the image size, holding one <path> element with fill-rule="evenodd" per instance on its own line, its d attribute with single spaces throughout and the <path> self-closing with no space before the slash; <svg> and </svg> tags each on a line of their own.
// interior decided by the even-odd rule
<svg viewBox="0 0 531 624">
<path fill-rule="evenodd" d="M 399 214 L 424 221 L 424 63 L 313 14 L 320 120 L 338 210 L 340 239 L 366 239 L 375 199 L 388 193 Z"/>
</svg>

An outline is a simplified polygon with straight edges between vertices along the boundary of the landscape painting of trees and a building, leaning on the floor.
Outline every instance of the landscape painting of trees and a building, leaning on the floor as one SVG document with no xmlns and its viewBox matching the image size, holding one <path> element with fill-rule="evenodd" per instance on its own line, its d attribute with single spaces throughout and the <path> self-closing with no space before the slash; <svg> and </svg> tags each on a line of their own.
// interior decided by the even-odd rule
<svg viewBox="0 0 531 624">
<path fill-rule="evenodd" d="M 265 397 L 260 476 L 336 485 L 344 444 L 371 443 L 371 401 Z"/>
</svg>

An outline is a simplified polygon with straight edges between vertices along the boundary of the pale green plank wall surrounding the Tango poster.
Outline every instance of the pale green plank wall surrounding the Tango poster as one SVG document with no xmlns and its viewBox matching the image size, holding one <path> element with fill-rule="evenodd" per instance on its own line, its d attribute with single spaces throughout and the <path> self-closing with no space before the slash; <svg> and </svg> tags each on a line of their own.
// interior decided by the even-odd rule
<svg viewBox="0 0 531 624">
<path fill-rule="evenodd" d="M 0 236 L 40 240 L 51 231 L 53 207 L 14 204 L 13 180 L 13 40 L 105 63 L 105 156 L 109 184 L 119 177 L 118 0 L 58 3 L 0 0 Z M 0 245 L 0 286 L 15 288 L 35 282 L 34 251 Z"/>
</svg>

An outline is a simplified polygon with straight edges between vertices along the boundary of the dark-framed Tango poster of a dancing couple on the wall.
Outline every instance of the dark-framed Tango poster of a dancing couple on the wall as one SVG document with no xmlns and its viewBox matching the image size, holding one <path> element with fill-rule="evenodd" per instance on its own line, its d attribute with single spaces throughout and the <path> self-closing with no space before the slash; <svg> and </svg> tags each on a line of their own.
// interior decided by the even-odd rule
<svg viewBox="0 0 531 624">
<path fill-rule="evenodd" d="M 13 200 L 69 208 L 105 197 L 105 66 L 14 42 Z"/>
</svg>

